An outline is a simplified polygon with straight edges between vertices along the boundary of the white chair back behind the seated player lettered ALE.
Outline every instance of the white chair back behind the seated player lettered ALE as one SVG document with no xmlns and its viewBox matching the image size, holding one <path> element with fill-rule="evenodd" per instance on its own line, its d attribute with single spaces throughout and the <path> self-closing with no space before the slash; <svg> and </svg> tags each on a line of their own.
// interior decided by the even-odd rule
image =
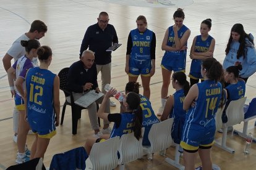
<svg viewBox="0 0 256 170">
<path fill-rule="evenodd" d="M 233 126 L 244 121 L 244 103 L 247 97 L 242 97 L 238 100 L 233 100 L 229 103 L 226 110 L 228 122 L 224 123 L 224 127 Z"/>
</svg>

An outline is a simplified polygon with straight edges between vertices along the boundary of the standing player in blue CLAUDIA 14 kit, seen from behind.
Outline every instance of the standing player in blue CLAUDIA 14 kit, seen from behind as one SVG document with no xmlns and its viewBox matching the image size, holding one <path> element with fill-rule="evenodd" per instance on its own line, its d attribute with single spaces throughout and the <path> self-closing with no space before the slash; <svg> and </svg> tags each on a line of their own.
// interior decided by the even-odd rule
<svg viewBox="0 0 256 170">
<path fill-rule="evenodd" d="M 222 65 L 214 58 L 203 60 L 201 74 L 205 81 L 194 84 L 184 99 L 183 109 L 188 110 L 182 132 L 186 169 L 195 169 L 197 152 L 202 169 L 212 169 L 211 146 L 215 136 L 215 113 L 221 100 Z"/>
</svg>

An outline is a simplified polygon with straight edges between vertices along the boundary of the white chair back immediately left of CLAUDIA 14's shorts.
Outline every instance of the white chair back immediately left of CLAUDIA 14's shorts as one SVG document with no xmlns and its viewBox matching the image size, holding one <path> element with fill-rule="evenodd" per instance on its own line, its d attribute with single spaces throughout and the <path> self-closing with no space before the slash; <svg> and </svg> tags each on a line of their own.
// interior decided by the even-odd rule
<svg viewBox="0 0 256 170">
<path fill-rule="evenodd" d="M 171 128 L 173 127 L 173 118 L 166 119 L 160 123 L 152 125 L 148 133 L 150 141 L 149 153 L 155 153 L 171 146 Z"/>
</svg>

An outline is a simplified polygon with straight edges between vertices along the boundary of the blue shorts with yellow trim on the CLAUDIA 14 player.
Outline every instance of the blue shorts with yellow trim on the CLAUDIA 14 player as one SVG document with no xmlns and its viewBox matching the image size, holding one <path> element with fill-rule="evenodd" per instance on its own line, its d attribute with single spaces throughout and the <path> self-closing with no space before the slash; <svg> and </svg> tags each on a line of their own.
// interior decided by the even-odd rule
<svg viewBox="0 0 256 170">
<path fill-rule="evenodd" d="M 210 147 L 214 144 L 215 125 L 203 128 L 190 124 L 189 131 L 185 132 L 186 124 L 184 124 L 181 147 L 186 150 L 198 150 L 199 146 Z"/>
</svg>

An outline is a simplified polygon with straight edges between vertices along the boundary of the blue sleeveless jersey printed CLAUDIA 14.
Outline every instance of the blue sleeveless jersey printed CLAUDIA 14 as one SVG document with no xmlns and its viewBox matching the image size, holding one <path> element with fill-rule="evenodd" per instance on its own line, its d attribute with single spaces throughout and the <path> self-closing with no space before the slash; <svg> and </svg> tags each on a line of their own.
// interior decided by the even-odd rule
<svg viewBox="0 0 256 170">
<path fill-rule="evenodd" d="M 202 129 L 208 126 L 215 126 L 215 113 L 221 99 L 221 83 L 215 83 L 212 80 L 206 80 L 197 83 L 198 99 L 195 101 L 195 107 L 190 107 L 186 115 L 186 127 L 184 131 L 189 132 L 189 127 L 196 126 Z"/>
</svg>

